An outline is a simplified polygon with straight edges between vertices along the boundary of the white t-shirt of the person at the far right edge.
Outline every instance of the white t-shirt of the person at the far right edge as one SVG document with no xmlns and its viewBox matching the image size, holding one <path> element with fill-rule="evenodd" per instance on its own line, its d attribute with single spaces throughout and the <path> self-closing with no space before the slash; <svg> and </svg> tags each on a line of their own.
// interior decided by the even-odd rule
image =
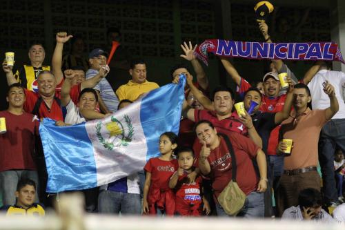
<svg viewBox="0 0 345 230">
<path fill-rule="evenodd" d="M 343 97 L 343 90 L 345 86 L 345 73 L 339 71 L 319 70 L 309 82 L 308 87 L 311 90 L 311 105 L 313 110 L 328 108 L 331 103 L 328 95 L 324 93 L 324 86 L 322 83 L 326 80 L 335 88 L 335 96 L 339 104 L 339 111 L 332 117 L 332 119 L 345 118 L 345 102 Z"/>
</svg>

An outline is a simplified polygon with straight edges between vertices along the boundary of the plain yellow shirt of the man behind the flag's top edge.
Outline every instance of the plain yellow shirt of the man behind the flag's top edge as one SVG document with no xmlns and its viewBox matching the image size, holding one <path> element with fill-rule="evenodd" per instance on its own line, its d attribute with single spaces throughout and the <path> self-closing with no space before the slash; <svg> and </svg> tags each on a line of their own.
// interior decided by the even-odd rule
<svg viewBox="0 0 345 230">
<path fill-rule="evenodd" d="M 144 83 L 138 84 L 130 80 L 126 85 L 122 85 L 116 90 L 116 95 L 119 98 L 119 102 L 123 99 L 134 102 L 140 95 L 148 93 L 155 88 L 159 88 L 159 85 L 155 82 L 145 81 Z"/>
</svg>

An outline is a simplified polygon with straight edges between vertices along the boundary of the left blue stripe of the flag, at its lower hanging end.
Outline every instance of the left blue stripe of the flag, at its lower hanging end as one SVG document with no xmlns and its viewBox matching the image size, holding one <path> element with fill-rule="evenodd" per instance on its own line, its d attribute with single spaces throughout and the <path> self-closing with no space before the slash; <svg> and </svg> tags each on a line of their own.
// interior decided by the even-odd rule
<svg viewBox="0 0 345 230">
<path fill-rule="evenodd" d="M 47 192 L 89 189 L 97 186 L 92 144 L 85 124 L 55 126 L 44 119 L 39 126 L 48 171 Z"/>
</svg>

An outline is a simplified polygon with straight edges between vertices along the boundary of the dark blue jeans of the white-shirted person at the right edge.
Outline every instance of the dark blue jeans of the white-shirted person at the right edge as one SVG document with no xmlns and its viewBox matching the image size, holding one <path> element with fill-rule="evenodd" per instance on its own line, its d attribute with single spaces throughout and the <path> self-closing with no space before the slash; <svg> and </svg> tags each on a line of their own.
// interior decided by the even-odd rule
<svg viewBox="0 0 345 230">
<path fill-rule="evenodd" d="M 319 162 L 326 202 L 337 202 L 338 200 L 334 175 L 336 145 L 345 153 L 345 119 L 331 119 L 322 128 L 319 138 Z"/>
</svg>

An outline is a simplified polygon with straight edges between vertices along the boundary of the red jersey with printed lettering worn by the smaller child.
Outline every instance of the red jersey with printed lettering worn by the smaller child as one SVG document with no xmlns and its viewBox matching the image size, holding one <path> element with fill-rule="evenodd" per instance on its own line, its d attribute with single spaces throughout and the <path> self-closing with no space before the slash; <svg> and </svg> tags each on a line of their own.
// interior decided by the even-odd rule
<svg viewBox="0 0 345 230">
<path fill-rule="evenodd" d="M 179 215 L 200 215 L 201 200 L 201 176 L 195 182 L 188 183 L 187 175 L 179 177 L 176 186 L 175 213 Z"/>
</svg>

